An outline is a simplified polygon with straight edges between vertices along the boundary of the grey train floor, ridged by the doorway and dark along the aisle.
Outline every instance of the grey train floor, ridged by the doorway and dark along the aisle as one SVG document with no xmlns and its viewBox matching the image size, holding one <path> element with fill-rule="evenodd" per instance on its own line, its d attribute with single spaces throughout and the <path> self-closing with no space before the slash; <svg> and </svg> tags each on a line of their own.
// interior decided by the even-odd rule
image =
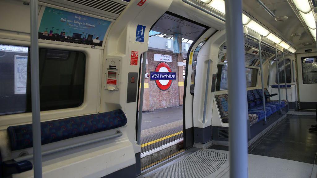
<svg viewBox="0 0 317 178">
<path fill-rule="evenodd" d="M 317 133 L 308 131 L 310 125 L 316 124 L 315 115 L 307 112 L 289 112 L 281 123 L 251 145 L 248 156 L 249 177 L 315 178 L 317 176 Z M 227 154 L 228 158 L 221 168 L 204 177 L 229 178 L 228 147 L 214 145 L 211 148 L 205 150 Z M 161 162 L 145 170 L 142 177 L 160 177 L 162 175 L 161 177 L 164 178 L 168 175 L 170 169 L 175 169 L 178 162 L 184 162 L 186 157 L 191 156 L 198 150 L 197 148 L 191 148 L 180 155 Z M 199 172 L 198 169 L 196 171 Z"/>
</svg>

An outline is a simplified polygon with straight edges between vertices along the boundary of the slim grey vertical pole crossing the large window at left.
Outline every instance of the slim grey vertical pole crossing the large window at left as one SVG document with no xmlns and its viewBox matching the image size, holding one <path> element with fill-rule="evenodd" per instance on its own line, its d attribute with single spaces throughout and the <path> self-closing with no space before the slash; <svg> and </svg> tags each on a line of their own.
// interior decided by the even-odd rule
<svg viewBox="0 0 317 178">
<path fill-rule="evenodd" d="M 42 177 L 40 84 L 39 84 L 39 45 L 38 45 L 38 5 L 37 0 L 30 1 L 31 10 L 31 101 L 33 134 L 33 173 L 35 178 Z"/>
</svg>

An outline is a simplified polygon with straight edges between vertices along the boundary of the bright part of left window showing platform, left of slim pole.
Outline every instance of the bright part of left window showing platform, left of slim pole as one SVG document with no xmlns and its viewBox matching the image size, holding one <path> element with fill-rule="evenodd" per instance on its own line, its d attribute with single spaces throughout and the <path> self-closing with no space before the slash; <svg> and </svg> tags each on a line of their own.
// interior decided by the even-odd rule
<svg viewBox="0 0 317 178">
<path fill-rule="evenodd" d="M 28 51 L 0 44 L 0 115 L 25 112 Z"/>
</svg>

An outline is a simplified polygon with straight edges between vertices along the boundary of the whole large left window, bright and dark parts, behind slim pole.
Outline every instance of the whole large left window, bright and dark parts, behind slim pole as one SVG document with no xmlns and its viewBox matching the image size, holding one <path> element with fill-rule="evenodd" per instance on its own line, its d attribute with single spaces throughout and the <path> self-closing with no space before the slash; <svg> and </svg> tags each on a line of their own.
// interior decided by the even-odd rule
<svg viewBox="0 0 317 178">
<path fill-rule="evenodd" d="M 86 57 L 39 49 L 41 111 L 78 107 L 84 99 Z M 31 112 L 29 48 L 0 44 L 0 115 Z"/>
</svg>

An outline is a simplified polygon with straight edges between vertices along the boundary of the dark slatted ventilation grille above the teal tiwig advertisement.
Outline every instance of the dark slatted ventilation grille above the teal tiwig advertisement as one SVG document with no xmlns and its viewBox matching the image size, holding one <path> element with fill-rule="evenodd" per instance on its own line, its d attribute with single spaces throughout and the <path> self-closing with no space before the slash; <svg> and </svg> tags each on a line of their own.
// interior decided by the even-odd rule
<svg viewBox="0 0 317 178">
<path fill-rule="evenodd" d="M 110 0 L 67 0 L 69 2 L 81 4 L 99 10 L 104 10 L 114 14 L 120 15 L 126 8 L 126 5 L 116 3 Z"/>
</svg>

